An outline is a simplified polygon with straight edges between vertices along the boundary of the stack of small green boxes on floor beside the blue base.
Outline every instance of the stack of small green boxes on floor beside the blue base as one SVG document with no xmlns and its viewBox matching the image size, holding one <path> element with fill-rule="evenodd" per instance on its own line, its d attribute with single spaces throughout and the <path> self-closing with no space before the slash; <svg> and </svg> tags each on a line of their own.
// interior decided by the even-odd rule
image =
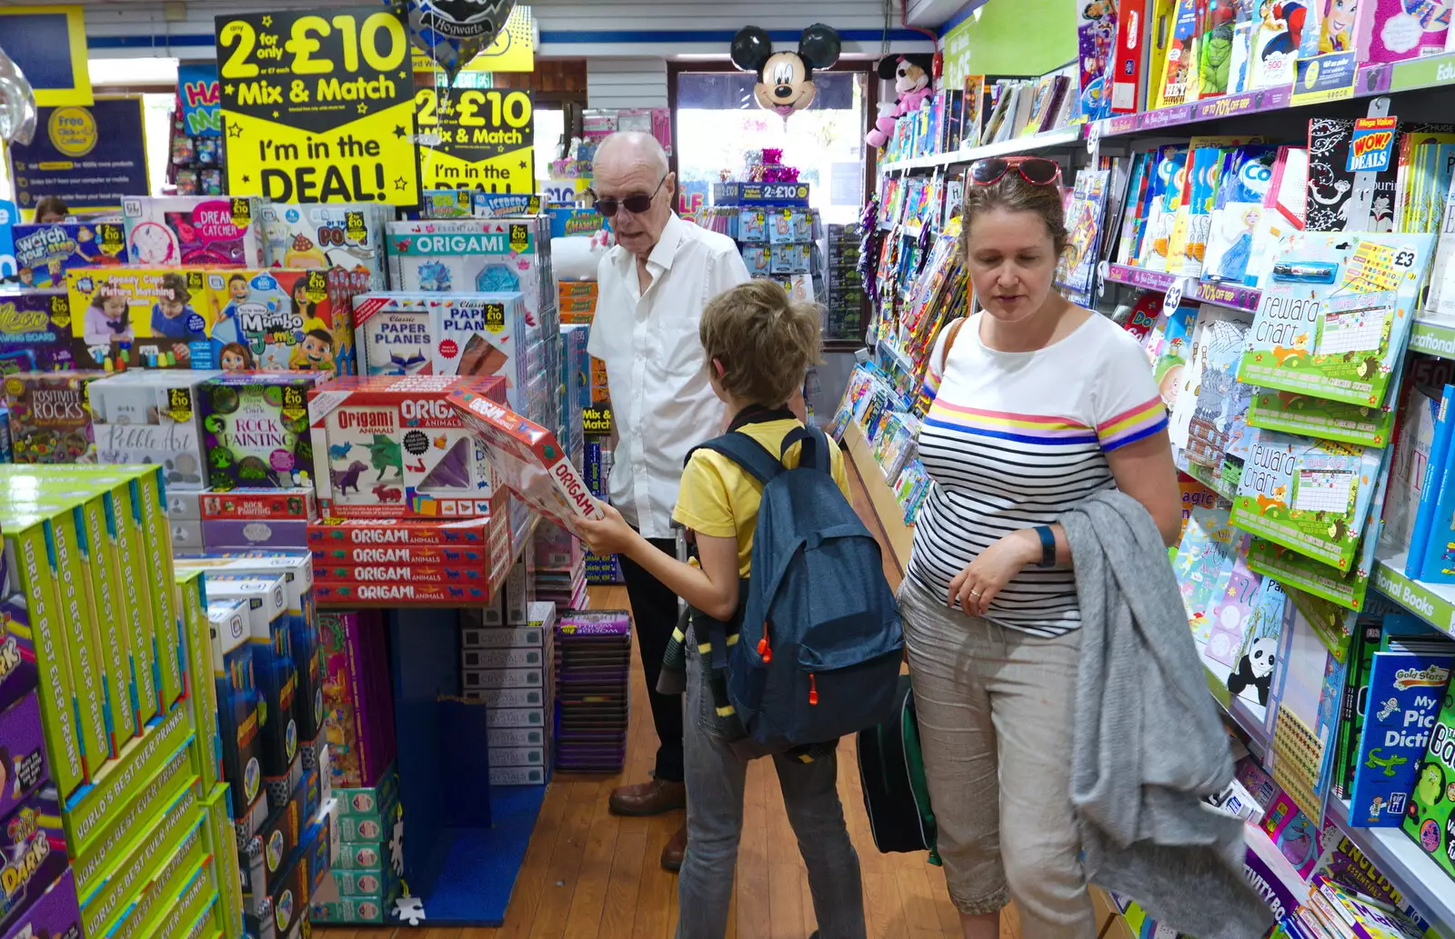
<svg viewBox="0 0 1455 939">
<path fill-rule="evenodd" d="M 399 898 L 404 859 L 403 808 L 393 766 L 375 786 L 333 791 L 339 856 L 313 897 L 314 923 L 383 923 Z"/>
</svg>

